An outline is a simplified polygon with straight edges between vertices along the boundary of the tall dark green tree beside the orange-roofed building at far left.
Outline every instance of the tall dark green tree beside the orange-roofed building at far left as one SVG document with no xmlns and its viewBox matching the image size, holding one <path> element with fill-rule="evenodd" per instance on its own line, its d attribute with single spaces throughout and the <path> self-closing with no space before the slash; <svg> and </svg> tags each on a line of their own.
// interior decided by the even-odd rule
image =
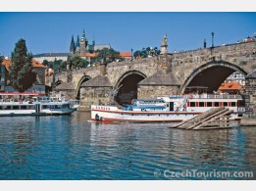
<svg viewBox="0 0 256 191">
<path fill-rule="evenodd" d="M 27 52 L 26 41 L 20 39 L 12 52 L 12 65 L 9 78 L 11 85 L 20 92 L 32 86 L 36 80 L 36 72 L 32 67 L 32 55 Z"/>
</svg>

